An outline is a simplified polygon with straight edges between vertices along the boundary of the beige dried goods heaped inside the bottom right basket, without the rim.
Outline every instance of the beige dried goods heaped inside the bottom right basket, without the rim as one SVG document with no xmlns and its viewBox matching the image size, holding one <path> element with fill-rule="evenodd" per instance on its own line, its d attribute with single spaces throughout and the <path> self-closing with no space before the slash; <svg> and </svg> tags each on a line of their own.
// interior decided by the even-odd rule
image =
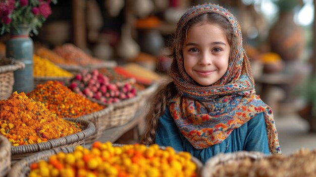
<svg viewBox="0 0 316 177">
<path fill-rule="evenodd" d="M 259 160 L 231 161 L 219 166 L 212 176 L 316 176 L 315 166 L 316 150 L 300 149 L 289 156 L 270 155 Z"/>
</svg>

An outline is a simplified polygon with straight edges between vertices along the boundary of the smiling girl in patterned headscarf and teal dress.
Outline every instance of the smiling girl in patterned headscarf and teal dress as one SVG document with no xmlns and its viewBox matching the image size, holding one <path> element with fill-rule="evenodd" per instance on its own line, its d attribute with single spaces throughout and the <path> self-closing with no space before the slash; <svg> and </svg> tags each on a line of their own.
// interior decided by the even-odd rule
<svg viewBox="0 0 316 177">
<path fill-rule="evenodd" d="M 211 4 L 189 9 L 177 24 L 172 57 L 173 81 L 153 97 L 141 143 L 172 146 L 202 162 L 241 150 L 281 153 L 233 15 Z"/>
</svg>

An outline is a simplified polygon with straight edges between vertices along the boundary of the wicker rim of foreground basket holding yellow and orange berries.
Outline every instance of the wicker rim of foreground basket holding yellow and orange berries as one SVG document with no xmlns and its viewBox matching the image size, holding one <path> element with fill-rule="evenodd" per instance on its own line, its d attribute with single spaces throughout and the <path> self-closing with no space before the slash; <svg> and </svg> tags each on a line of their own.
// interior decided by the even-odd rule
<svg viewBox="0 0 316 177">
<path fill-rule="evenodd" d="M 122 146 L 122 144 L 113 144 L 113 146 Z M 91 145 L 87 146 L 86 148 L 91 148 Z M 36 153 L 32 156 L 26 157 L 17 163 L 15 163 L 10 172 L 8 173 L 8 177 L 16 177 L 16 176 L 28 176 L 30 172 L 30 165 L 32 163 L 38 162 L 39 160 L 48 160 L 51 155 L 57 154 L 58 152 L 64 153 L 71 153 L 74 151 L 74 147 L 64 147 L 64 148 L 57 148 L 54 150 L 47 150 L 43 152 Z M 197 176 L 199 176 L 200 170 L 202 168 L 202 163 L 195 157 L 192 156 L 191 160 L 197 166 Z"/>
</svg>

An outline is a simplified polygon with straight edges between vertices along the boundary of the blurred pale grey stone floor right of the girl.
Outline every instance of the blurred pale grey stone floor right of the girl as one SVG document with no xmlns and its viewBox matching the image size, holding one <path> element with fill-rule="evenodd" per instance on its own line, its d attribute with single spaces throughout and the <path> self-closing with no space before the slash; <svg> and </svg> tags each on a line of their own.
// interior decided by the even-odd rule
<svg viewBox="0 0 316 177">
<path fill-rule="evenodd" d="M 275 116 L 279 142 L 283 154 L 300 148 L 316 149 L 316 133 L 308 133 L 308 123 L 296 113 Z"/>
</svg>

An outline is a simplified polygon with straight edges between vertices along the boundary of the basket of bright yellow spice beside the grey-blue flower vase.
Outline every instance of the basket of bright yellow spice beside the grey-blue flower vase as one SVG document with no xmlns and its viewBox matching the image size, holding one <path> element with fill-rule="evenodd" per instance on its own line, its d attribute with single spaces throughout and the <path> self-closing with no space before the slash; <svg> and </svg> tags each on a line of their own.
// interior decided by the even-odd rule
<svg viewBox="0 0 316 177">
<path fill-rule="evenodd" d="M 67 83 L 74 77 L 72 73 L 36 54 L 33 55 L 33 61 L 34 88 L 36 88 L 38 84 L 43 84 L 47 81 Z"/>
</svg>

